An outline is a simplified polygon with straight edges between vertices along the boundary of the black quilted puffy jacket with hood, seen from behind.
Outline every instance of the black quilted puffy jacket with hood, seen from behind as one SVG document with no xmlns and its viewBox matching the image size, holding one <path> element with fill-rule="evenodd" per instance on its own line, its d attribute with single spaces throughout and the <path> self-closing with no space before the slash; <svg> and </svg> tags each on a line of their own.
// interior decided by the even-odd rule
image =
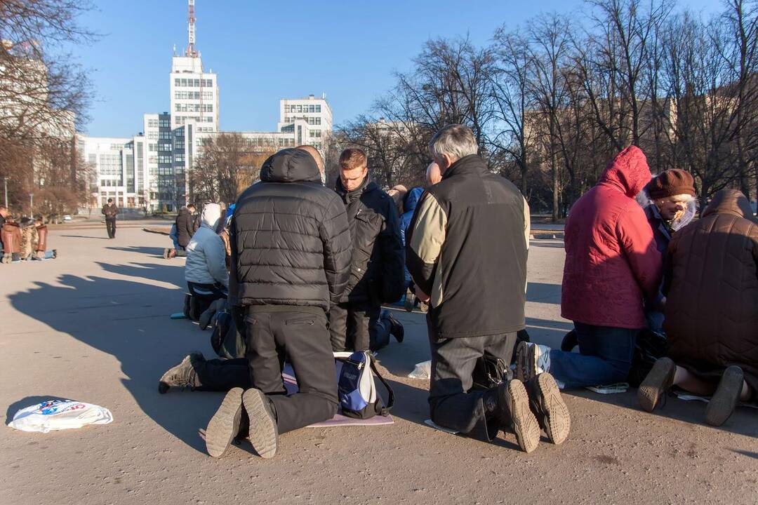
<svg viewBox="0 0 758 505">
<path fill-rule="evenodd" d="M 230 224 L 229 300 L 236 306 L 329 310 L 345 290 L 350 235 L 340 197 L 305 151 L 269 157 L 240 195 Z"/>
</svg>

